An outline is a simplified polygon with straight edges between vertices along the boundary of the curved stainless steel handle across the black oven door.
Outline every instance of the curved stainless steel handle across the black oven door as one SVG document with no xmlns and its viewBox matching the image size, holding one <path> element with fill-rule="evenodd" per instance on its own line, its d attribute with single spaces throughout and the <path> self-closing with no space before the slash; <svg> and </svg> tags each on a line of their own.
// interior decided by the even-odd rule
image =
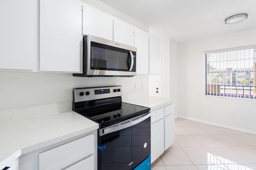
<svg viewBox="0 0 256 170">
<path fill-rule="evenodd" d="M 139 115 L 137 117 L 133 117 L 132 119 L 122 121 L 122 122 L 117 123 L 115 125 L 112 125 L 110 127 L 106 127 L 104 129 L 99 129 L 99 135 L 103 136 L 103 135 L 106 135 L 108 133 L 112 133 L 112 132 L 115 132 L 115 131 L 120 131 L 120 130 L 125 129 L 127 127 L 131 127 L 133 125 L 136 125 L 136 124 L 148 119 L 148 117 L 150 117 L 150 116 L 151 116 L 151 113 L 148 112 L 148 113 Z"/>
</svg>

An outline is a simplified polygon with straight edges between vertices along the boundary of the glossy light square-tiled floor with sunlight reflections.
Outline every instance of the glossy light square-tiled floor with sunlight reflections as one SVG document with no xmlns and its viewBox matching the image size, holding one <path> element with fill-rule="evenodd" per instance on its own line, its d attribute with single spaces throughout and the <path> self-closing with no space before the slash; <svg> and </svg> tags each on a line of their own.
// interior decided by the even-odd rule
<svg viewBox="0 0 256 170">
<path fill-rule="evenodd" d="M 175 141 L 152 170 L 256 170 L 256 135 L 175 119 Z"/>
</svg>

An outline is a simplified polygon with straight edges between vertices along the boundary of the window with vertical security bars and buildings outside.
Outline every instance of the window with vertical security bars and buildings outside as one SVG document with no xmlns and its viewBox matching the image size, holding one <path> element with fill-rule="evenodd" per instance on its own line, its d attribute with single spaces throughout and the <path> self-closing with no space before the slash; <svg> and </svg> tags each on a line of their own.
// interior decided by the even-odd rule
<svg viewBox="0 0 256 170">
<path fill-rule="evenodd" d="M 256 46 L 240 48 L 205 52 L 206 95 L 256 99 Z"/>
</svg>

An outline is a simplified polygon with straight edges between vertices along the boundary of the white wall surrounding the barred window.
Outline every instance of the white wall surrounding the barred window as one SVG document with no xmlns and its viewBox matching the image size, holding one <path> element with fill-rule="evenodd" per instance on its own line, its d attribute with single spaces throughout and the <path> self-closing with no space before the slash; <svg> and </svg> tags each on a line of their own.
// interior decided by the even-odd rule
<svg viewBox="0 0 256 170">
<path fill-rule="evenodd" d="M 256 44 L 256 28 L 178 43 L 179 115 L 256 134 L 256 100 L 205 96 L 204 51 Z M 235 112 L 236 117 L 231 117 Z"/>
</svg>

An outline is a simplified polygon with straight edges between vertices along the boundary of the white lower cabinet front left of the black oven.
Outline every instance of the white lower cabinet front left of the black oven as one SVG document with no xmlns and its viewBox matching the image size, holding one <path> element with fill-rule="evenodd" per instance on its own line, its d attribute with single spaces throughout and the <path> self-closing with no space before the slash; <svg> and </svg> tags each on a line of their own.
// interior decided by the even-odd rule
<svg viewBox="0 0 256 170">
<path fill-rule="evenodd" d="M 97 130 L 19 157 L 19 170 L 96 170 Z"/>
</svg>

